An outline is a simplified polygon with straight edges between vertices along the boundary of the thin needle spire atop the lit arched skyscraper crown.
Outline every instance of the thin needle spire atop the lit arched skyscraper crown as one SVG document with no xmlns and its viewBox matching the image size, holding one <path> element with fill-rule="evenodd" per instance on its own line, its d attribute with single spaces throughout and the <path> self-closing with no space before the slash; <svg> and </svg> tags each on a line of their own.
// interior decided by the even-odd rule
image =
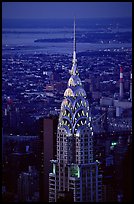
<svg viewBox="0 0 134 204">
<path fill-rule="evenodd" d="M 71 69 L 71 74 L 76 75 L 77 59 L 76 59 L 76 28 L 75 28 L 75 17 L 74 17 L 74 42 L 73 42 L 73 66 Z"/>
</svg>

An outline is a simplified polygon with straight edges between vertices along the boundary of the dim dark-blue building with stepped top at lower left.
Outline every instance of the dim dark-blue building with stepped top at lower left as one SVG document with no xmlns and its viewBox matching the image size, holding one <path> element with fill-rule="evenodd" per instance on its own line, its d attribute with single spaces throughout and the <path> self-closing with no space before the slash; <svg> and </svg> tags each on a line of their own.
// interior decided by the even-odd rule
<svg viewBox="0 0 134 204">
<path fill-rule="evenodd" d="M 18 178 L 18 201 L 39 201 L 39 174 L 34 166 L 22 172 Z"/>
</svg>

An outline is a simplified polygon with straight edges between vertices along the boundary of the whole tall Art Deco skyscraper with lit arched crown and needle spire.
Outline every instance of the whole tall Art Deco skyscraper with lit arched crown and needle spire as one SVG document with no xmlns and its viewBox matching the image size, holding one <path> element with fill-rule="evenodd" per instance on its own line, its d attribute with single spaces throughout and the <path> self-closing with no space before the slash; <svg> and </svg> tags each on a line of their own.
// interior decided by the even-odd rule
<svg viewBox="0 0 134 204">
<path fill-rule="evenodd" d="M 77 69 L 75 21 L 73 61 L 57 127 L 57 159 L 51 160 L 49 202 L 72 195 L 74 202 L 102 199 L 99 163 L 93 158 L 93 130 L 89 103 Z M 71 200 L 71 197 L 70 197 Z"/>
</svg>

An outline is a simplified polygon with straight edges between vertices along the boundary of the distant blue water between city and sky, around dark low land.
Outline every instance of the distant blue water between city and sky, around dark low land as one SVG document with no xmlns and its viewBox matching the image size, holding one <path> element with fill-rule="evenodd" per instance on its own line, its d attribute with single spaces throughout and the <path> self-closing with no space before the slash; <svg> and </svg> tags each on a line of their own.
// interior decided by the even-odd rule
<svg viewBox="0 0 134 204">
<path fill-rule="evenodd" d="M 125 19 L 76 19 L 76 31 L 81 36 L 87 32 L 111 29 L 113 32 L 132 32 L 132 20 Z M 2 46 L 4 53 L 72 53 L 73 40 L 69 43 L 35 43 L 37 39 L 72 38 L 73 19 L 56 20 L 2 20 Z M 131 43 L 79 43 L 77 52 L 105 48 L 131 48 Z"/>
</svg>

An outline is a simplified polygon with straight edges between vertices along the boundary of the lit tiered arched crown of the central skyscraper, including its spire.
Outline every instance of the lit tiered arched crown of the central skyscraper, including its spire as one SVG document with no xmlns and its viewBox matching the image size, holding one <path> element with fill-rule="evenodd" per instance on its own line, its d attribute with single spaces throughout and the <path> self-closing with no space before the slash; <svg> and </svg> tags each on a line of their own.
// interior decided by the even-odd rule
<svg viewBox="0 0 134 204">
<path fill-rule="evenodd" d="M 71 77 L 68 81 L 68 88 L 64 92 L 64 100 L 61 104 L 58 128 L 65 128 L 67 135 L 78 135 L 80 128 L 90 127 L 89 103 L 86 99 L 86 92 L 82 87 L 77 70 L 76 59 L 76 38 L 74 20 L 74 46 Z"/>
</svg>

